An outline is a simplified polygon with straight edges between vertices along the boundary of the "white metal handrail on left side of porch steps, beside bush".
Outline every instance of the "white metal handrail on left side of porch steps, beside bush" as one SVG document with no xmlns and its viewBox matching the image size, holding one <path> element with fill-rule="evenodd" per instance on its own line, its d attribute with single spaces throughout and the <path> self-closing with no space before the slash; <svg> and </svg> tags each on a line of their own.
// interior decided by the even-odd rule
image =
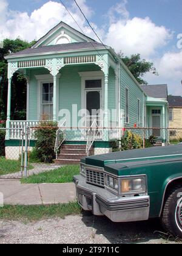
<svg viewBox="0 0 182 256">
<path fill-rule="evenodd" d="M 59 148 L 61 148 L 62 143 L 66 140 L 66 120 L 64 120 L 62 123 L 58 123 L 59 129 L 56 131 L 56 140 L 55 140 L 55 154 L 56 159 L 58 159 L 58 151 Z"/>
</svg>

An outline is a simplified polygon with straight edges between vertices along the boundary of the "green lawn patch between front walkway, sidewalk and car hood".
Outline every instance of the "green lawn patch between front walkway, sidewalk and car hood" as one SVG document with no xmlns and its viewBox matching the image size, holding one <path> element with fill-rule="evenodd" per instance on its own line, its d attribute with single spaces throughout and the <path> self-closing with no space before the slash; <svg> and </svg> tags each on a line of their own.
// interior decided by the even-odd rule
<svg viewBox="0 0 182 256">
<path fill-rule="evenodd" d="M 78 165 L 67 165 L 49 172 L 22 178 L 21 183 L 70 183 L 73 182 L 73 176 L 78 174 Z"/>
</svg>

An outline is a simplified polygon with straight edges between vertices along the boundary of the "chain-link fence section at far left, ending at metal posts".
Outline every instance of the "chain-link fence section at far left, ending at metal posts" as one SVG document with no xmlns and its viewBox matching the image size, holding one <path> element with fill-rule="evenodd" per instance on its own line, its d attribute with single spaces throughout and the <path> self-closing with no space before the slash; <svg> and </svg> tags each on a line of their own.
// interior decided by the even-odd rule
<svg viewBox="0 0 182 256">
<path fill-rule="evenodd" d="M 0 179 L 26 176 L 25 130 L 0 128 Z"/>
</svg>

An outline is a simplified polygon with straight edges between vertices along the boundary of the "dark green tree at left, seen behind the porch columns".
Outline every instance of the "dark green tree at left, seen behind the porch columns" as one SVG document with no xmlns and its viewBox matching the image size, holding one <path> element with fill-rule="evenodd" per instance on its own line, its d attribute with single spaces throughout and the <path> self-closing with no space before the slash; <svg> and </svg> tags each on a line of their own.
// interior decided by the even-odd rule
<svg viewBox="0 0 182 256">
<path fill-rule="evenodd" d="M 0 48 L 0 119 L 6 119 L 7 112 L 7 60 L 4 57 L 10 53 L 30 48 L 35 41 L 28 43 L 19 38 L 5 39 Z M 12 79 L 12 115 L 13 119 L 25 119 L 26 116 L 27 82 L 24 76 L 15 73 Z"/>
</svg>

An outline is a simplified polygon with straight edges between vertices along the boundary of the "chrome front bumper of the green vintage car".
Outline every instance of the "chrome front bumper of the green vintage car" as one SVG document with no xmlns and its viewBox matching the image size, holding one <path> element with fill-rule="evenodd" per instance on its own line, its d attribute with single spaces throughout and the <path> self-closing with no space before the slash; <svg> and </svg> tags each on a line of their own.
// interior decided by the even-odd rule
<svg viewBox="0 0 182 256">
<path fill-rule="evenodd" d="M 86 183 L 75 176 L 78 204 L 93 215 L 106 215 L 113 222 L 146 221 L 149 219 L 150 197 L 119 197 L 104 188 Z"/>
</svg>

